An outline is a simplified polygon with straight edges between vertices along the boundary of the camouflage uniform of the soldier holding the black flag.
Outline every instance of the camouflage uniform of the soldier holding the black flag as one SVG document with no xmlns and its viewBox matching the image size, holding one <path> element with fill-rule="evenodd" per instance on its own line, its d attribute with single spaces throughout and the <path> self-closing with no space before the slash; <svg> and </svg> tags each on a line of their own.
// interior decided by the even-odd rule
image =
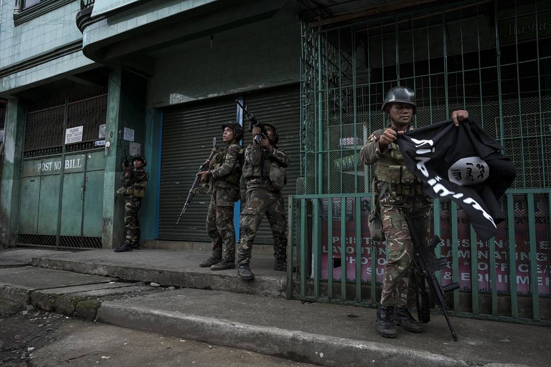
<svg viewBox="0 0 551 367">
<path fill-rule="evenodd" d="M 421 182 L 407 170 L 397 144 L 392 143 L 390 150 L 380 151 L 379 136 L 383 131 L 371 134 L 360 151 L 361 162 L 375 164 L 375 193 L 380 198 L 380 215 L 388 249 L 381 305 L 412 309 L 417 285 L 413 281 L 413 245 L 405 218 L 420 216 L 419 223 L 428 241 L 432 202 L 422 192 Z"/>
</svg>

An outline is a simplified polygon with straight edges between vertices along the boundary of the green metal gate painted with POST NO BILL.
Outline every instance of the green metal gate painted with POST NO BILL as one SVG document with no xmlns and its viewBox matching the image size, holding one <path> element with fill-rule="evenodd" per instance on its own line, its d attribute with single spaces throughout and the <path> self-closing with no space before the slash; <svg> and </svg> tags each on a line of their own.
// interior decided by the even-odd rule
<svg viewBox="0 0 551 367">
<path fill-rule="evenodd" d="M 101 248 L 106 103 L 100 94 L 27 109 L 18 244 Z M 82 139 L 66 144 L 72 127 Z"/>
</svg>

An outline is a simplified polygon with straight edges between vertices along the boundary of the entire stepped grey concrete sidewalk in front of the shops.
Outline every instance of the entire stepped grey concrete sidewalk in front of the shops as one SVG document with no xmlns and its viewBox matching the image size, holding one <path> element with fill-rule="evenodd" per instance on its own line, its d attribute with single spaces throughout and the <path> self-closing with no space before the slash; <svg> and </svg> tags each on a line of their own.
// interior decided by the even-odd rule
<svg viewBox="0 0 551 367">
<path fill-rule="evenodd" d="M 375 330 L 375 309 L 255 294 L 273 295 L 273 291 L 261 292 L 263 285 L 273 285 L 262 281 L 263 277 L 279 282 L 284 290 L 285 273 L 270 269 L 272 259 L 253 259 L 258 279 L 249 282 L 255 284 L 254 292 L 250 292 L 247 283 L 237 279 L 235 269 L 215 272 L 198 268 L 196 264 L 204 256 L 143 250 L 47 254 L 34 258 L 33 264 L 121 279 L 114 282 L 98 275 L 29 267 L 0 269 L 0 290 L 8 284 L 9 290 L 19 290 L 35 307 L 61 313 L 69 309 L 79 316 L 76 308 L 67 305 L 74 304 L 72 300 L 76 304 L 84 302 L 82 305 L 93 299 L 99 307 L 95 308 L 96 320 L 107 324 L 318 365 L 538 367 L 548 366 L 551 360 L 549 327 L 452 318 L 459 338 L 453 342 L 445 319 L 433 316 L 424 325 L 424 333 L 400 330 L 398 338 L 388 340 Z M 213 287 L 207 285 L 212 281 L 219 286 L 215 279 L 220 278 L 232 292 L 211 290 Z M 204 287 L 161 290 L 121 280 L 158 281 L 164 285 L 178 281 Z M 149 290 L 153 294 L 142 296 Z"/>
</svg>

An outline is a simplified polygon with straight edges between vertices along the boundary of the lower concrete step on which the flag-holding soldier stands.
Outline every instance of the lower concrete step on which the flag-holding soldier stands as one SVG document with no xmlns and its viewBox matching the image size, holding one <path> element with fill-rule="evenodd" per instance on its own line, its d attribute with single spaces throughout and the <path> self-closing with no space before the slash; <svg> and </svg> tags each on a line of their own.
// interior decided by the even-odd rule
<svg viewBox="0 0 551 367">
<path fill-rule="evenodd" d="M 551 329 L 444 317 L 380 337 L 375 310 L 190 288 L 103 302 L 96 321 L 326 366 L 540 366 Z M 522 353 L 518 347 L 522 346 Z"/>
</svg>

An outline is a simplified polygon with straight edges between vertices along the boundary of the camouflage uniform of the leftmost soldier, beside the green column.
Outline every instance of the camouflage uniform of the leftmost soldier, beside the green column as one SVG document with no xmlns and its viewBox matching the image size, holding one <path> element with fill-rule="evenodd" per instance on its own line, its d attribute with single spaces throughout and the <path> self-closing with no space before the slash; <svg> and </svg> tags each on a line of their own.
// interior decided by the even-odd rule
<svg viewBox="0 0 551 367">
<path fill-rule="evenodd" d="M 125 194 L 125 246 L 139 248 L 140 225 L 138 221 L 138 209 L 142 205 L 142 198 L 147 186 L 147 172 L 142 168 L 130 170 L 130 174 L 122 174 L 123 187 L 127 188 Z"/>
</svg>

